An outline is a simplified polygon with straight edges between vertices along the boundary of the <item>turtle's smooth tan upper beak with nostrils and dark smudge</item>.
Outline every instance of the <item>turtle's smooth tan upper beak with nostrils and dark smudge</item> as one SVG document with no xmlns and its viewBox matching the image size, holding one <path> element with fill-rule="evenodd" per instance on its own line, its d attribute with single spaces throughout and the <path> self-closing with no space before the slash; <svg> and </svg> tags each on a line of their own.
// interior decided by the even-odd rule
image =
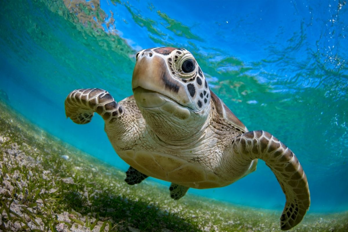
<svg viewBox="0 0 348 232">
<path fill-rule="evenodd" d="M 133 93 L 138 87 L 163 94 L 183 106 L 192 104 L 184 83 L 172 75 L 165 58 L 151 50 L 137 55 L 132 78 Z"/>
</svg>

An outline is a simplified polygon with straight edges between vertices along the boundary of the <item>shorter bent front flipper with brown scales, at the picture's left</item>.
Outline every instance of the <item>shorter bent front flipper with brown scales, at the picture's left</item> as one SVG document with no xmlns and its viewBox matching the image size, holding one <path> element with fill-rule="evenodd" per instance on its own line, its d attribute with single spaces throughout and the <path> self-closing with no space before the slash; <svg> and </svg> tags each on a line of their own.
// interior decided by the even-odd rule
<svg viewBox="0 0 348 232">
<path fill-rule="evenodd" d="M 97 112 L 105 122 L 112 122 L 122 113 L 122 107 L 103 89 L 76 89 L 65 99 L 65 114 L 77 124 L 90 122 Z"/>
</svg>

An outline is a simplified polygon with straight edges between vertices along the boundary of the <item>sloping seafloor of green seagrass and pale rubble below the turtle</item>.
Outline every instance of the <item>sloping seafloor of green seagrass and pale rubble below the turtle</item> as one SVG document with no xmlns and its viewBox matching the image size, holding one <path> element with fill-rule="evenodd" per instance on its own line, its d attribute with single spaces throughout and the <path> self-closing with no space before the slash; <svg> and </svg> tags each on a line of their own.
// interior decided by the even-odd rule
<svg viewBox="0 0 348 232">
<path fill-rule="evenodd" d="M 280 231 L 280 211 L 187 194 L 179 201 L 33 126 L 0 101 L 0 231 Z M 348 231 L 348 212 L 291 231 Z"/>
</svg>

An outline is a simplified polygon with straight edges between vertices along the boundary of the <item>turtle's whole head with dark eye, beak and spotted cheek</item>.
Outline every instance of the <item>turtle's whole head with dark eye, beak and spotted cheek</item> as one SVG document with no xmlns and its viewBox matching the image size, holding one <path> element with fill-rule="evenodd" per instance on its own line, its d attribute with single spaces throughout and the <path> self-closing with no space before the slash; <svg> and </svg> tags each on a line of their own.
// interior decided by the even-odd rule
<svg viewBox="0 0 348 232">
<path fill-rule="evenodd" d="M 183 48 L 136 54 L 132 88 L 144 119 L 165 140 L 192 138 L 205 125 L 210 91 L 193 55 Z"/>
</svg>

